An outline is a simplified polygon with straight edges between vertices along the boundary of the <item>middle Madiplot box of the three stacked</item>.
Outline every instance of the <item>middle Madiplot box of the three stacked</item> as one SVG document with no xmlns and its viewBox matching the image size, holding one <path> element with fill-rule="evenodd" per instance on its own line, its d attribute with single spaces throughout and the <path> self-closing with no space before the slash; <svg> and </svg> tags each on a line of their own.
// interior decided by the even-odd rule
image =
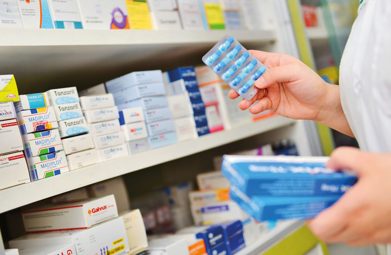
<svg viewBox="0 0 391 255">
<path fill-rule="evenodd" d="M 29 158 L 63 149 L 58 129 L 23 135 L 23 140 L 25 153 Z"/>
</svg>

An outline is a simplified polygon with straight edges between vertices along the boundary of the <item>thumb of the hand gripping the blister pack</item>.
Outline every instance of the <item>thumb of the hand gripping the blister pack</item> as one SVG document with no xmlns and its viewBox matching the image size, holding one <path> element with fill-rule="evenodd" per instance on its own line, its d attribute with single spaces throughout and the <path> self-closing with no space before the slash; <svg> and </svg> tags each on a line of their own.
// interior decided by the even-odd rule
<svg viewBox="0 0 391 255">
<path fill-rule="evenodd" d="M 271 67 L 255 81 L 255 86 L 259 89 L 265 89 L 278 82 L 294 81 L 298 74 L 300 74 L 300 66 L 296 63 Z"/>
</svg>

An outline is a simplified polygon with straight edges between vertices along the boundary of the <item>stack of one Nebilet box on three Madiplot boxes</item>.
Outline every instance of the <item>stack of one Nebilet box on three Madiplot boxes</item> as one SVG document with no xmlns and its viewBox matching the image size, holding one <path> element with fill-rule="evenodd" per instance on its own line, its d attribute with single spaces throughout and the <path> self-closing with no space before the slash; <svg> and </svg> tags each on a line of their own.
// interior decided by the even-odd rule
<svg viewBox="0 0 391 255">
<path fill-rule="evenodd" d="M 15 104 L 31 181 L 69 171 L 50 102 L 44 92 L 20 95 L 19 103 Z"/>
</svg>

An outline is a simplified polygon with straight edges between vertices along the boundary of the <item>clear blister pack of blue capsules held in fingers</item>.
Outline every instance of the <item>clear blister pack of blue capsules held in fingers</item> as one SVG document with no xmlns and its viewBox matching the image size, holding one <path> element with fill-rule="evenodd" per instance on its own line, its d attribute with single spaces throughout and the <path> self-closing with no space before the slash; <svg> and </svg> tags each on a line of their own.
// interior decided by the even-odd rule
<svg viewBox="0 0 391 255">
<path fill-rule="evenodd" d="M 246 100 L 258 92 L 254 83 L 267 70 L 230 34 L 224 35 L 202 60 Z"/>
</svg>

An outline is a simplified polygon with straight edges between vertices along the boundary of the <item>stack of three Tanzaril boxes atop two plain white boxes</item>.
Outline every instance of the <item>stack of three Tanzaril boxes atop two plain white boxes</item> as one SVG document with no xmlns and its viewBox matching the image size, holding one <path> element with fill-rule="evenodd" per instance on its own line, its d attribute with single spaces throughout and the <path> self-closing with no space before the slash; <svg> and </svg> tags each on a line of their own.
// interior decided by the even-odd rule
<svg viewBox="0 0 391 255">
<path fill-rule="evenodd" d="M 61 143 L 69 170 L 98 163 L 97 152 L 83 117 L 76 87 L 48 90 L 58 120 Z"/>
</svg>

